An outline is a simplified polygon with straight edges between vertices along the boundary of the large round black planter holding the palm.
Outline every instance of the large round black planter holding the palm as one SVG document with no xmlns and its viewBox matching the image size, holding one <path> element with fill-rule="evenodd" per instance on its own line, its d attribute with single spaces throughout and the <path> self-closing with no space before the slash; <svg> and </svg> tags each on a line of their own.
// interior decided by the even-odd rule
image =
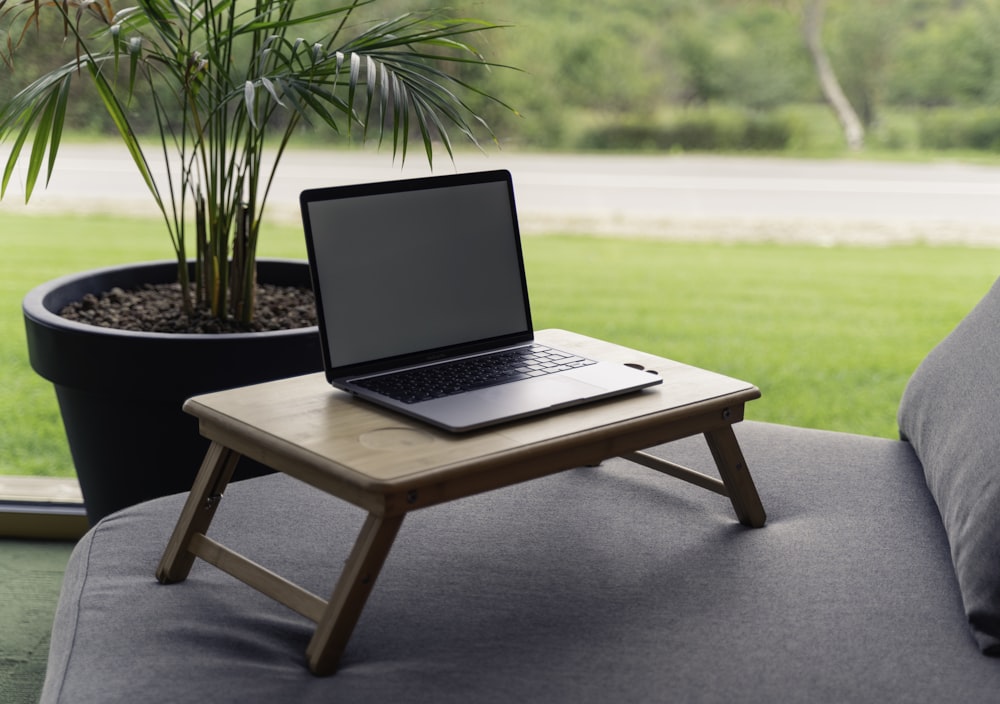
<svg viewBox="0 0 1000 704">
<path fill-rule="evenodd" d="M 146 499 L 187 491 L 207 449 L 181 410 L 191 396 L 322 368 L 315 327 L 221 335 L 118 331 L 58 315 L 115 286 L 175 281 L 175 262 L 67 276 L 24 298 L 31 366 L 56 389 L 91 524 Z M 260 281 L 309 286 L 305 262 L 261 260 Z M 247 459 L 237 478 L 269 470 Z"/>
</svg>

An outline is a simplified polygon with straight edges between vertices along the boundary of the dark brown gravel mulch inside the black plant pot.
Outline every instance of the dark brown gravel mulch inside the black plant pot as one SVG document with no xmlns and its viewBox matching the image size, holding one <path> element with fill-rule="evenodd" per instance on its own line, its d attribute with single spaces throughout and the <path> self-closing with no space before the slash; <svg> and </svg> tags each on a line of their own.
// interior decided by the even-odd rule
<svg viewBox="0 0 1000 704">
<path fill-rule="evenodd" d="M 232 320 L 220 321 L 206 311 L 185 314 L 179 284 L 146 284 L 135 290 L 114 288 L 100 295 L 87 294 L 66 306 L 60 315 L 90 325 L 138 332 L 263 332 L 316 325 L 316 302 L 309 289 L 260 284 L 255 319 L 246 326 Z"/>
</svg>

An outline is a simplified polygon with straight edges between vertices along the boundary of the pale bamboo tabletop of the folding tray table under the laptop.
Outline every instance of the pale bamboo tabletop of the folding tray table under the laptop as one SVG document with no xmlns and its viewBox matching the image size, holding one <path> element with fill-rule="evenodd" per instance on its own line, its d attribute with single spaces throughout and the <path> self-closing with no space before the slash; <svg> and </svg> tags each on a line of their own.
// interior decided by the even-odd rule
<svg viewBox="0 0 1000 704">
<path fill-rule="evenodd" d="M 674 421 L 726 407 L 742 408 L 760 396 L 746 382 L 572 333 L 545 331 L 538 338 L 611 361 L 636 360 L 632 363 L 657 369 L 664 383 L 626 397 L 465 435 L 439 431 L 354 399 L 331 389 L 322 374 L 200 396 L 185 408 L 199 418 L 206 437 L 377 510 L 369 503 L 372 495 L 405 492 L 466 475 L 473 465 L 502 465 L 516 455 L 574 445 L 582 435 L 639 437 L 649 431 L 649 444 L 665 442 L 670 433 L 663 429 Z M 364 442 L 393 430 L 407 433 L 411 442 L 380 448 Z M 618 453 L 605 458 L 614 454 Z"/>
</svg>

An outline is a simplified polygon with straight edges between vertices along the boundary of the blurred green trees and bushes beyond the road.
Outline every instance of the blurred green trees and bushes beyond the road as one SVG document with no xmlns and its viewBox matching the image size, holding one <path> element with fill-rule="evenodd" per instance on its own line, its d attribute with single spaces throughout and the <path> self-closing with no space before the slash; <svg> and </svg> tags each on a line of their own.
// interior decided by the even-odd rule
<svg viewBox="0 0 1000 704">
<path fill-rule="evenodd" d="M 298 1 L 305 10 L 326 4 Z M 494 71 L 485 88 L 524 117 L 476 106 L 507 144 L 837 149 L 802 40 L 802 3 L 455 0 L 448 13 L 511 26 L 480 49 L 521 70 Z M 367 13 L 440 5 L 381 0 Z M 824 42 L 870 147 L 1000 150 L 1000 0 L 827 0 L 826 8 Z M 0 80 L 0 100 L 72 50 L 34 42 Z M 84 109 L 75 116 L 83 131 L 107 130 L 102 120 Z"/>
</svg>

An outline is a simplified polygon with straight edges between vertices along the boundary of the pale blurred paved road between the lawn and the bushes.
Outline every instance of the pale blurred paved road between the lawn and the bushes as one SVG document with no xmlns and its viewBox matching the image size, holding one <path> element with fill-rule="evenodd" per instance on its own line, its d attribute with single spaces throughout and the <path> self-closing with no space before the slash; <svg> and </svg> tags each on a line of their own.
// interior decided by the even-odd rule
<svg viewBox="0 0 1000 704">
<path fill-rule="evenodd" d="M 4 154 L 0 154 L 3 158 Z M 438 156 L 436 172 L 509 168 L 522 227 L 716 240 L 933 241 L 1000 246 L 1000 166 L 720 156 Z M 296 151 L 282 162 L 272 217 L 297 220 L 303 188 L 429 173 L 422 154 Z M 0 209 L 17 211 L 19 186 Z M 117 144 L 63 148 L 29 208 L 149 213 L 151 200 Z"/>
</svg>

